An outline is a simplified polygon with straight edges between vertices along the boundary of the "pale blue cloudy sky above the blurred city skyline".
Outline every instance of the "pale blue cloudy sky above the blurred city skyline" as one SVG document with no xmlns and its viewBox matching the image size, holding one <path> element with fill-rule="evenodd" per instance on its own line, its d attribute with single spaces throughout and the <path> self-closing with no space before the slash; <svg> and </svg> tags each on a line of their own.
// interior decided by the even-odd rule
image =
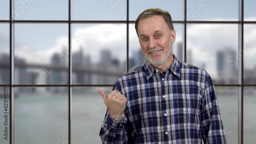
<svg viewBox="0 0 256 144">
<path fill-rule="evenodd" d="M 9 16 L 8 1 L 1 1 L 0 19 Z M 26 2 L 26 3 L 22 3 Z M 173 20 L 182 20 L 182 1 L 129 1 L 129 20 L 136 20 L 139 13 L 151 7 L 169 11 Z M 235 3 L 236 2 L 236 3 Z M 245 0 L 245 20 L 256 20 L 256 2 Z M 73 1 L 73 20 L 126 20 L 126 1 L 124 0 L 95 0 Z M 15 1 L 15 19 L 18 20 L 67 20 L 68 1 Z M 56 10 L 57 9 L 57 10 Z M 187 20 L 238 20 L 238 1 L 187 1 Z M 0 23 L 1 52 L 9 50 L 9 25 Z M 176 43 L 182 42 L 182 27 L 175 25 L 177 32 Z M 129 50 L 139 49 L 138 38 L 134 24 L 130 24 Z M 256 37 L 256 27 L 245 25 L 244 40 L 253 43 Z M 3 42 L 2 42 L 3 41 Z M 123 61 L 126 59 L 126 24 L 125 23 L 87 23 L 72 25 L 72 51 L 77 52 L 83 47 L 84 54 L 90 54 L 93 62 L 98 62 L 99 52 L 108 49 L 113 58 Z M 246 42 L 245 42 L 246 44 Z M 30 63 L 48 63 L 53 53 L 68 47 L 68 25 L 58 24 L 16 24 L 15 25 L 15 56 L 24 57 Z M 193 50 L 193 64 L 206 63 L 206 69 L 216 70 L 216 57 L 212 55 L 224 47 L 238 50 L 238 25 L 187 25 L 187 49 Z M 174 46 L 175 49 L 175 46 Z M 253 68 L 256 65 L 254 56 L 255 46 L 245 52 L 245 66 Z M 201 56 L 200 59 L 198 56 Z M 42 61 L 44 59 L 44 61 Z M 212 66 L 214 64 L 214 66 Z"/>
</svg>

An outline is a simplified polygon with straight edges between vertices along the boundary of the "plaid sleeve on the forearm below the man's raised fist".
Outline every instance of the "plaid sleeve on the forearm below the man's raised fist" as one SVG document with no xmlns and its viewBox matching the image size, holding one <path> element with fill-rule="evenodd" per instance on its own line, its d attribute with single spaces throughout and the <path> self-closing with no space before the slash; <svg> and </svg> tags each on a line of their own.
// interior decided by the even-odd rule
<svg viewBox="0 0 256 144">
<path fill-rule="evenodd" d="M 115 86 L 113 89 L 118 90 Z M 120 91 L 120 90 L 119 90 Z M 126 111 L 126 108 L 125 108 Z M 125 112 L 124 112 L 125 113 Z M 120 122 L 116 122 L 109 114 L 109 110 L 106 110 L 103 124 L 101 125 L 99 136 L 102 143 L 127 143 L 127 131 L 126 122 L 127 117 L 122 114 Z"/>
</svg>

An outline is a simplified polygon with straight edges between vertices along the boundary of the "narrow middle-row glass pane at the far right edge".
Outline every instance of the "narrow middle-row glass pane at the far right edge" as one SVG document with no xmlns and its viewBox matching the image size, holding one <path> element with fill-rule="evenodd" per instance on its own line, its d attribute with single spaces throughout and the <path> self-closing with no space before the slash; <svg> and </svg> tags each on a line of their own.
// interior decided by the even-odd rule
<svg viewBox="0 0 256 144">
<path fill-rule="evenodd" d="M 256 25 L 244 25 L 244 84 L 256 84 Z"/>
</svg>

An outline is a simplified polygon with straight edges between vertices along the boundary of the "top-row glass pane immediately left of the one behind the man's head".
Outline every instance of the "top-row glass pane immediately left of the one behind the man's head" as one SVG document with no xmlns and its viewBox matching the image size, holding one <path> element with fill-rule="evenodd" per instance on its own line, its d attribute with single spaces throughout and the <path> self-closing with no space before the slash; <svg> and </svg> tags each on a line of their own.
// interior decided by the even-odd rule
<svg viewBox="0 0 256 144">
<path fill-rule="evenodd" d="M 72 1 L 73 20 L 126 20 L 124 0 Z"/>
</svg>

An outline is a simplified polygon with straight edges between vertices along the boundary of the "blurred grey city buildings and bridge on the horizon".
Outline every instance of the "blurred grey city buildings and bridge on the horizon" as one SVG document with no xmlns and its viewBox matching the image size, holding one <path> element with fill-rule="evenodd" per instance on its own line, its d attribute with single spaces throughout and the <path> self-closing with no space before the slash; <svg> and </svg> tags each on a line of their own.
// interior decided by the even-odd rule
<svg viewBox="0 0 256 144">
<path fill-rule="evenodd" d="M 173 49 L 173 53 L 178 60 L 183 59 L 182 43 L 177 43 Z M 112 84 L 121 75 L 126 73 L 126 60 L 121 61 L 113 57 L 110 49 L 102 49 L 100 53 L 100 61 L 92 62 L 92 56 L 83 53 L 84 48 L 80 47 L 78 52 L 72 54 L 72 84 Z M 135 67 L 143 64 L 146 59 L 141 50 L 131 50 L 132 55 L 129 58 L 129 71 Z M 190 50 L 188 50 L 190 51 Z M 217 69 L 216 75 L 211 76 L 217 84 L 237 84 L 238 83 L 238 60 L 237 52 L 231 47 L 224 47 L 224 49 L 216 53 L 215 67 Z M 187 59 L 190 64 L 194 64 L 195 58 L 193 51 L 187 53 Z M 61 53 L 55 53 L 51 56 L 50 63 L 31 64 L 25 58 L 15 57 L 15 84 L 68 84 L 68 59 L 62 57 Z M 8 83 L 9 81 L 9 55 L 0 54 L 0 62 L 2 64 L 1 83 Z M 53 65 L 55 63 L 55 65 Z M 206 62 L 196 65 L 201 68 L 206 68 Z M 256 65 L 255 65 L 256 69 Z M 43 73 L 47 78 L 40 78 Z M 245 79 L 249 84 L 256 81 L 256 70 L 244 69 Z M 218 77 L 216 77 L 218 76 Z M 217 79 L 216 79 L 217 78 Z"/>
</svg>

